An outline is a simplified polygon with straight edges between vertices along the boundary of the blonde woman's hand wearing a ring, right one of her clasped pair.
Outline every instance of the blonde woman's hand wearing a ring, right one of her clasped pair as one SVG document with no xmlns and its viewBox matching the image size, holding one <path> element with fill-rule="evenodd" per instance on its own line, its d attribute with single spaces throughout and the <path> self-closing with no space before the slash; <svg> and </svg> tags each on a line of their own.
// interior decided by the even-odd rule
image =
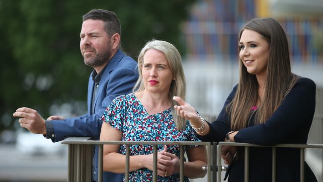
<svg viewBox="0 0 323 182">
<path fill-rule="evenodd" d="M 158 159 L 158 169 L 165 171 L 165 173 L 160 176 L 165 177 L 165 174 L 167 174 L 167 176 L 171 176 L 175 173 L 179 173 L 178 157 L 169 152 L 164 152 L 163 155 L 169 157 L 171 160 L 165 160 L 163 158 Z"/>
</svg>

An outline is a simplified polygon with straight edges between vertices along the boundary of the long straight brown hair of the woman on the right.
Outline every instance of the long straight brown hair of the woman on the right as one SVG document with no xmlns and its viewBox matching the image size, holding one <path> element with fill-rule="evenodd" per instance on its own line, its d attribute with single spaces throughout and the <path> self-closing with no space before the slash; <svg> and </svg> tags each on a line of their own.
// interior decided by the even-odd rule
<svg viewBox="0 0 323 182">
<path fill-rule="evenodd" d="M 279 107 L 284 97 L 293 88 L 298 76 L 291 72 L 288 42 L 280 24 L 273 18 L 255 18 L 242 26 L 243 30 L 253 30 L 262 35 L 269 43 L 267 76 L 263 99 L 255 115 L 255 124 L 265 123 Z M 241 48 L 239 47 L 239 52 Z M 258 99 L 258 82 L 255 75 L 247 72 L 242 60 L 239 60 L 239 85 L 234 99 L 228 104 L 227 111 L 231 117 L 231 129 L 238 131 L 247 127 L 251 107 Z"/>
</svg>

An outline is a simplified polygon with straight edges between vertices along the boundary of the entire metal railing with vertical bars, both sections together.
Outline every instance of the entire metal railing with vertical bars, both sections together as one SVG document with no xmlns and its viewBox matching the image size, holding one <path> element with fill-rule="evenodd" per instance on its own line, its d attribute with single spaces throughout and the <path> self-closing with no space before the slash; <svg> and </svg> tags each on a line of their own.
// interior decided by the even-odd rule
<svg viewBox="0 0 323 182">
<path fill-rule="evenodd" d="M 154 169 L 153 180 L 157 182 L 157 145 L 179 145 L 180 147 L 180 182 L 184 181 L 184 149 L 186 145 L 207 146 L 208 164 L 204 167 L 207 170 L 207 181 L 221 182 L 221 171 L 225 171 L 222 166 L 221 153 L 217 153 L 222 146 L 244 147 L 244 182 L 249 181 L 249 147 L 270 147 L 272 148 L 272 182 L 276 181 L 276 148 L 299 148 L 300 149 L 300 181 L 304 182 L 304 161 L 305 148 L 323 149 L 323 144 L 280 144 L 275 146 L 260 146 L 248 143 L 219 142 L 218 145 L 210 142 L 163 142 L 163 141 L 92 141 L 90 137 L 70 137 L 62 141 L 62 144 L 69 145 L 68 152 L 68 182 L 90 182 L 92 175 L 92 148 L 98 145 L 98 182 L 103 181 L 103 145 L 126 145 L 126 169 L 125 181 L 129 181 L 129 146 L 130 145 L 153 145 Z M 212 163 L 211 163 L 212 159 Z M 214 168 L 216 166 L 216 168 Z M 218 167 L 221 167 L 218 172 Z M 213 170 L 212 170 L 213 169 Z M 214 170 L 215 169 L 215 170 Z M 212 171 L 212 173 L 211 173 Z M 218 172 L 218 175 L 217 175 Z"/>
</svg>

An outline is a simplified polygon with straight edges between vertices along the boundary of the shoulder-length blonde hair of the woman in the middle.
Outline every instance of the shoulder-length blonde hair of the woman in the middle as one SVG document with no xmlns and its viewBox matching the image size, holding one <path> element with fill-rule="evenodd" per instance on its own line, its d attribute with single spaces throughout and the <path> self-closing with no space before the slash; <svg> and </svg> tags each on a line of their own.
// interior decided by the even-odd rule
<svg viewBox="0 0 323 182">
<path fill-rule="evenodd" d="M 172 99 L 172 97 L 180 96 L 182 99 L 185 99 L 186 83 L 183 72 L 182 59 L 174 45 L 166 41 L 154 39 L 146 43 L 146 45 L 140 51 L 140 54 L 138 56 L 139 79 L 134 87 L 134 92 L 145 90 L 142 75 L 142 67 L 144 64 L 144 55 L 149 49 L 156 49 L 158 51 L 161 51 L 167 59 L 169 69 L 174 77 L 174 80 L 172 81 L 168 92 L 168 99 L 172 103 L 171 113 L 178 130 L 183 130 L 186 126 L 186 121 L 176 114 L 174 105 L 176 105 L 177 103 L 175 100 Z"/>
</svg>

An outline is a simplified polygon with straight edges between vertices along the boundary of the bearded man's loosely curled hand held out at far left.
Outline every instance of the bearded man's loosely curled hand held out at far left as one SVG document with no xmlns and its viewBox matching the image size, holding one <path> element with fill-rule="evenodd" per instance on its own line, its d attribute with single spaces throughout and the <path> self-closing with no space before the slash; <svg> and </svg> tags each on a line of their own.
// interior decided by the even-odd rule
<svg viewBox="0 0 323 182">
<path fill-rule="evenodd" d="M 28 107 L 21 107 L 12 115 L 14 117 L 21 117 L 18 120 L 21 127 L 27 128 L 32 133 L 46 135 L 45 120 L 36 110 Z"/>
</svg>

